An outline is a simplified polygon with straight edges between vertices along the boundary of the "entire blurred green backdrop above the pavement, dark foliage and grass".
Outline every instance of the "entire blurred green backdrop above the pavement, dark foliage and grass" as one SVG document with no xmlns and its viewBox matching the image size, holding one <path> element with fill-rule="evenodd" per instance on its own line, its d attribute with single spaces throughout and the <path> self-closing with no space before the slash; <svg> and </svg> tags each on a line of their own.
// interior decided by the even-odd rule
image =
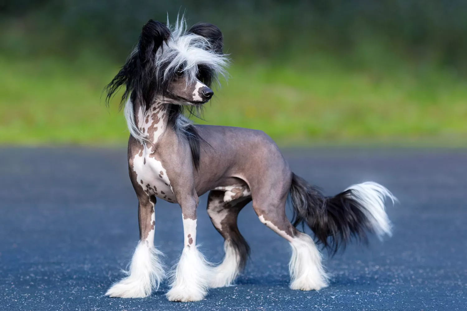
<svg viewBox="0 0 467 311">
<path fill-rule="evenodd" d="M 204 120 L 282 145 L 466 145 L 465 0 L 0 2 L 0 143 L 124 144 L 101 92 L 150 18 L 224 34 Z"/>
</svg>

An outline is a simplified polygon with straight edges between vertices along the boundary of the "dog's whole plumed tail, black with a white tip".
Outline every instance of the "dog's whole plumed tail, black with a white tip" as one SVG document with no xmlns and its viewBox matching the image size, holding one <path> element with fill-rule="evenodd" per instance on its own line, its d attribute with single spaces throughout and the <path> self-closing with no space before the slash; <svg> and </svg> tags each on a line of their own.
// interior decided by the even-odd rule
<svg viewBox="0 0 467 311">
<path fill-rule="evenodd" d="M 318 242 L 334 254 L 353 239 L 367 242 L 368 232 L 379 238 L 391 235 L 391 222 L 384 207 L 386 197 L 393 204 L 397 200 L 388 189 L 370 181 L 326 197 L 318 188 L 292 174 L 293 225 L 306 223 Z"/>
</svg>

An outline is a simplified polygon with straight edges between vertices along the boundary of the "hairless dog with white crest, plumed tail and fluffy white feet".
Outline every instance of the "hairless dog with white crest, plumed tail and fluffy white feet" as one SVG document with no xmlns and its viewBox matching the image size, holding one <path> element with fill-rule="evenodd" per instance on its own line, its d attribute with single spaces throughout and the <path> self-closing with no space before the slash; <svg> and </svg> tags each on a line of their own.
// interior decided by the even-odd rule
<svg viewBox="0 0 467 311">
<path fill-rule="evenodd" d="M 375 182 L 348 187 L 326 197 L 292 173 L 275 142 L 262 131 L 194 125 L 184 111 L 196 113 L 213 96 L 212 83 L 226 75 L 222 33 L 216 26 L 184 18 L 170 26 L 150 20 L 119 73 L 107 85 L 107 104 L 125 87 L 124 105 L 130 138 L 128 169 L 139 207 L 140 241 L 127 276 L 114 283 L 110 297 L 148 297 L 166 276 L 154 246 L 156 199 L 182 209 L 184 249 L 171 272 L 170 301 L 202 300 L 209 288 L 233 284 L 245 267 L 249 247 L 237 227 L 237 215 L 253 201 L 259 220 L 288 242 L 290 288 L 328 286 L 317 244 L 332 252 L 367 233 L 391 234 L 385 200 L 396 198 Z M 122 108 L 122 107 L 120 107 Z M 209 192 L 207 213 L 224 237 L 225 256 L 217 266 L 197 249 L 198 197 Z M 285 214 L 290 197 L 294 217 Z M 299 230 L 308 225 L 313 240 Z"/>
</svg>

